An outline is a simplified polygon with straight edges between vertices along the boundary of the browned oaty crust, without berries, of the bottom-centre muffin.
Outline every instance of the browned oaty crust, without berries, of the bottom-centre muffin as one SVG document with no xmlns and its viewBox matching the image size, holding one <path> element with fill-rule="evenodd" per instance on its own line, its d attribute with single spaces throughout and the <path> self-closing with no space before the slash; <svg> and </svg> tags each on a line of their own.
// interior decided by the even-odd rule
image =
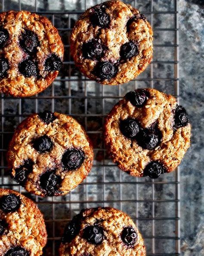
<svg viewBox="0 0 204 256">
<path fill-rule="evenodd" d="M 85 209 L 78 214 L 81 221 L 79 234 L 70 243 L 61 243 L 59 256 L 82 256 L 86 253 L 94 256 L 125 255 L 145 256 L 145 245 L 138 228 L 131 218 L 124 212 L 110 207 L 97 207 Z M 83 228 L 87 225 L 100 224 L 105 230 L 105 241 L 100 245 L 93 245 L 83 239 Z M 124 227 L 135 228 L 138 239 L 135 246 L 128 248 L 121 240 L 121 231 Z"/>
</svg>

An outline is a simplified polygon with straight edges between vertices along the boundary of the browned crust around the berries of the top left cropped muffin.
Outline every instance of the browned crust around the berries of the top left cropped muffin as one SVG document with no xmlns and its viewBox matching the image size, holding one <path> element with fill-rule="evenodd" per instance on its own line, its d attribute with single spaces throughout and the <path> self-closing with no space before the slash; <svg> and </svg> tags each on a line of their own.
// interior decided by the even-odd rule
<svg viewBox="0 0 204 256">
<path fill-rule="evenodd" d="M 15 97 L 33 96 L 45 90 L 59 73 L 44 70 L 46 57 L 55 53 L 63 59 L 64 54 L 64 46 L 57 29 L 46 17 L 28 11 L 0 13 L 0 24 L 9 32 L 9 42 L 2 49 L 2 55 L 9 61 L 9 70 L 7 76 L 0 81 L 0 90 Z M 40 41 L 36 54 L 42 75 L 39 79 L 24 77 L 18 70 L 18 64 L 28 57 L 19 46 L 19 35 L 25 28 L 36 32 Z"/>
</svg>

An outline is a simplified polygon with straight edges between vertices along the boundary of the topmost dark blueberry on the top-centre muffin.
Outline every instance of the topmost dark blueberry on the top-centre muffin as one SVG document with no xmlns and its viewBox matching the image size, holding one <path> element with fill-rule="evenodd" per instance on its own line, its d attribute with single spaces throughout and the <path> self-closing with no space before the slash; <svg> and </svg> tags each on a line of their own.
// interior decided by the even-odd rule
<svg viewBox="0 0 204 256">
<path fill-rule="evenodd" d="M 95 8 L 93 13 L 90 15 L 90 21 L 93 26 L 99 26 L 100 28 L 107 28 L 110 24 L 110 17 L 105 10 Z"/>
</svg>

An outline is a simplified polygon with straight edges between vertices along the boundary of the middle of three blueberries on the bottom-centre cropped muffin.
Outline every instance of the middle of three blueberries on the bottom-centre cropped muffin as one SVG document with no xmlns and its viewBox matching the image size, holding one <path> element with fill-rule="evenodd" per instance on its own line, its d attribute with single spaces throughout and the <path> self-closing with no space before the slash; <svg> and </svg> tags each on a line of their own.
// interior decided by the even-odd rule
<svg viewBox="0 0 204 256">
<path fill-rule="evenodd" d="M 83 238 L 89 243 L 100 244 L 104 239 L 104 233 L 102 227 L 99 225 L 85 227 L 83 231 Z"/>
</svg>

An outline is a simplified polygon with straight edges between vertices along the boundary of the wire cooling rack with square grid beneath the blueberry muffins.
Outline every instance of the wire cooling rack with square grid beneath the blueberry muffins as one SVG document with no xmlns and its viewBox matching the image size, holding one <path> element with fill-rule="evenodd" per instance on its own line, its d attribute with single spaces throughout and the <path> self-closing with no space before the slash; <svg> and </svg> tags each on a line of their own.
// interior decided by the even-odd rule
<svg viewBox="0 0 204 256">
<path fill-rule="evenodd" d="M 43 93 L 28 98 L 0 96 L 0 186 L 25 193 L 44 214 L 48 243 L 44 255 L 58 255 L 65 224 L 82 208 L 111 206 L 127 212 L 145 238 L 147 255 L 180 255 L 179 170 L 152 180 L 120 171 L 108 159 L 102 142 L 105 115 L 128 91 L 151 87 L 179 98 L 178 1 L 125 1 L 151 22 L 154 58 L 136 79 L 119 86 L 102 86 L 84 77 L 70 58 L 69 35 L 75 20 L 97 0 L 1 0 L 1 11 L 29 10 L 47 16 L 65 45 L 64 67 Z M 8 175 L 6 147 L 16 126 L 32 112 L 51 110 L 74 116 L 94 144 L 94 165 L 87 179 L 68 195 L 41 198 L 28 194 Z"/>
</svg>

